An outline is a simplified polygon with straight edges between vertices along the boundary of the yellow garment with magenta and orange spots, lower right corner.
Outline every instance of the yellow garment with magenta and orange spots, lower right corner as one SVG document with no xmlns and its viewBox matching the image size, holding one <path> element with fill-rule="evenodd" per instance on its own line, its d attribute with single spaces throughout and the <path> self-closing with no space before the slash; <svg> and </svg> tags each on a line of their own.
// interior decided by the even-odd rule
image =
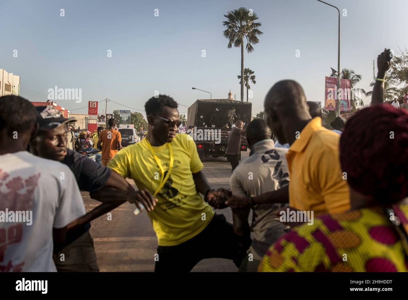
<svg viewBox="0 0 408 300">
<path fill-rule="evenodd" d="M 408 204 L 393 207 L 408 231 Z M 262 272 L 406 272 L 403 244 L 379 207 L 315 218 L 273 244 Z"/>
</svg>

